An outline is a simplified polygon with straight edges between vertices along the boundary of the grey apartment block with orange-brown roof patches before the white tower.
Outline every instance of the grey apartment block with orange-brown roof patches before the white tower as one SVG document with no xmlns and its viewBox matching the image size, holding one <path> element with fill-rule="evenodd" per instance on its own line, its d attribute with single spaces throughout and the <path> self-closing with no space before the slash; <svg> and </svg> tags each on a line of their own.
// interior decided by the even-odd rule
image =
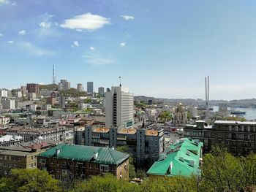
<svg viewBox="0 0 256 192">
<path fill-rule="evenodd" d="M 136 166 L 149 168 L 163 151 L 164 131 L 146 128 L 99 128 L 86 126 L 74 133 L 75 144 L 100 147 L 127 146 Z"/>
</svg>

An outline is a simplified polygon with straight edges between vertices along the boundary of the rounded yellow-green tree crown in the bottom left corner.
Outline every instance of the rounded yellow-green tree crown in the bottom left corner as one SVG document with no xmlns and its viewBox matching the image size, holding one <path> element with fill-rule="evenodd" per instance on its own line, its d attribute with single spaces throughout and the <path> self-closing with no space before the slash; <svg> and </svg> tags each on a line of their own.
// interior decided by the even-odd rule
<svg viewBox="0 0 256 192">
<path fill-rule="evenodd" d="M 12 169 L 10 177 L 0 180 L 0 192 L 59 192 L 59 181 L 39 169 Z"/>
</svg>

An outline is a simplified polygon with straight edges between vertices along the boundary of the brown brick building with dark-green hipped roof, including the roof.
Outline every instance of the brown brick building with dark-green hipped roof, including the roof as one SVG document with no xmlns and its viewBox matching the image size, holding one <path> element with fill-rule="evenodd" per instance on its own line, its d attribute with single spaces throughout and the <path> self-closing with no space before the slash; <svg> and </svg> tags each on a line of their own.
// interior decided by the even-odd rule
<svg viewBox="0 0 256 192">
<path fill-rule="evenodd" d="M 61 144 L 37 156 L 38 169 L 59 180 L 73 180 L 110 172 L 129 179 L 129 155 L 107 147 Z"/>
</svg>

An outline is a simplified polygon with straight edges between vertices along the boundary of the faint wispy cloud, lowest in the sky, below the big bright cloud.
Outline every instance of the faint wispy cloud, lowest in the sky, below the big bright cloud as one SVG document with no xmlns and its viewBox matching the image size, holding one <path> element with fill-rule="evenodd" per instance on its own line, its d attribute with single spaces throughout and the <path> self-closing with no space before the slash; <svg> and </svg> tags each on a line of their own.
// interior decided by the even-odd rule
<svg viewBox="0 0 256 192">
<path fill-rule="evenodd" d="M 86 58 L 86 63 L 91 65 L 108 65 L 113 64 L 115 60 L 113 58 L 102 58 L 97 53 L 83 55 L 83 58 Z"/>
</svg>

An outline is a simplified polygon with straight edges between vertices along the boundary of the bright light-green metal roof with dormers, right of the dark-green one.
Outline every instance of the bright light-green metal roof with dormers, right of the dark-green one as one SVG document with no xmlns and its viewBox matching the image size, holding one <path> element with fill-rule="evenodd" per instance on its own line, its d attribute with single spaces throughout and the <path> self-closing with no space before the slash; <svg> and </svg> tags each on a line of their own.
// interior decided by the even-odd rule
<svg viewBox="0 0 256 192">
<path fill-rule="evenodd" d="M 159 158 L 147 174 L 155 175 L 183 175 L 189 177 L 191 174 L 200 175 L 200 155 L 203 147 L 203 142 L 195 142 L 195 140 L 181 139 L 170 146 L 172 151 L 167 155 L 166 158 Z M 173 150 L 174 149 L 174 150 Z M 170 164 L 173 162 L 173 168 L 170 172 Z M 193 165 L 191 164 L 193 163 Z"/>
</svg>

